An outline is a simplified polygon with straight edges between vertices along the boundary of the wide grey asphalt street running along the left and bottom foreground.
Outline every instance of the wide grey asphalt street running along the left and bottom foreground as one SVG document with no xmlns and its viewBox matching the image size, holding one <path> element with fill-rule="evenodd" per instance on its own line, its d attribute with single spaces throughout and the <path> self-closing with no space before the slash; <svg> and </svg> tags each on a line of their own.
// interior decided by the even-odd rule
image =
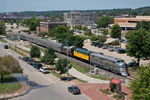
<svg viewBox="0 0 150 100">
<path fill-rule="evenodd" d="M 4 49 L 4 44 L 0 43 L 0 56 L 12 55 L 18 59 L 15 52 Z M 67 91 L 67 87 L 72 82 L 63 82 L 51 74 L 42 74 L 26 62 L 18 59 L 24 74 L 28 76 L 29 84 L 32 86 L 29 93 L 11 100 L 91 100 L 84 94 L 73 95 Z"/>
</svg>

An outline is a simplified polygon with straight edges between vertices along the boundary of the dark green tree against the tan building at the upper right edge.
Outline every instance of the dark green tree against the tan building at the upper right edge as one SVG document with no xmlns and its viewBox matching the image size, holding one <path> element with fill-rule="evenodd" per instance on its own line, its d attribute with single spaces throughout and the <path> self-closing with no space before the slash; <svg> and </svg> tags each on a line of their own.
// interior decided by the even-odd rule
<svg viewBox="0 0 150 100">
<path fill-rule="evenodd" d="M 136 25 L 136 29 L 145 29 L 146 31 L 150 30 L 150 23 L 146 21 L 138 22 Z"/>
</svg>

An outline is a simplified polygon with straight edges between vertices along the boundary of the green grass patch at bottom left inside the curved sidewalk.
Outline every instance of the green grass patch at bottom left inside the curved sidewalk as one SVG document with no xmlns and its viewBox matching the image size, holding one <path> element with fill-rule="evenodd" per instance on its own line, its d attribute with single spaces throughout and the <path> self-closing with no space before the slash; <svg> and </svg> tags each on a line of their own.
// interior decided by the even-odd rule
<svg viewBox="0 0 150 100">
<path fill-rule="evenodd" d="M 20 83 L 15 84 L 0 84 L 0 94 L 11 93 L 21 88 Z"/>
</svg>

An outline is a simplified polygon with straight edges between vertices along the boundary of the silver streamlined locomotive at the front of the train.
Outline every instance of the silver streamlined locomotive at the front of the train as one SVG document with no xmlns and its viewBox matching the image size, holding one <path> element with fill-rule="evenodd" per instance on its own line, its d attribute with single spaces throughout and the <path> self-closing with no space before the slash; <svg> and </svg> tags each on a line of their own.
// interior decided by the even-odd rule
<svg viewBox="0 0 150 100">
<path fill-rule="evenodd" d="M 90 63 L 94 66 L 110 70 L 116 74 L 127 76 L 127 66 L 124 60 L 98 53 L 90 54 Z"/>
</svg>

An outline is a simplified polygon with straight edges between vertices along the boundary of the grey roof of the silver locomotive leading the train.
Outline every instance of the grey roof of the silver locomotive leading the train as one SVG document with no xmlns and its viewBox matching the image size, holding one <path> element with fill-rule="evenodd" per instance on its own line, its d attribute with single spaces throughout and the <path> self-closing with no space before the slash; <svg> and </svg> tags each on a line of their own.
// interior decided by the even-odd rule
<svg viewBox="0 0 150 100">
<path fill-rule="evenodd" d="M 121 58 L 115 58 L 115 57 L 112 57 L 112 56 L 107 56 L 107 55 L 99 54 L 99 53 L 91 53 L 91 55 L 94 55 L 94 56 L 97 56 L 97 57 L 100 57 L 100 58 L 103 58 L 103 59 L 107 59 L 107 60 L 110 60 L 110 61 L 113 61 L 113 62 L 122 61 Z"/>
</svg>

